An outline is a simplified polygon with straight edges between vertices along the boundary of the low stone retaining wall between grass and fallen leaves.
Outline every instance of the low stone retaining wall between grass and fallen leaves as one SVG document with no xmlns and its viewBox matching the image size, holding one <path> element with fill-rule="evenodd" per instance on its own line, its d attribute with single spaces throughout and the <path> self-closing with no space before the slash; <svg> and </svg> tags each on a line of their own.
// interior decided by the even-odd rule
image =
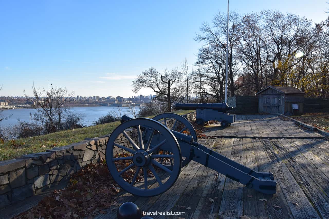
<svg viewBox="0 0 329 219">
<path fill-rule="evenodd" d="M 195 112 L 185 117 L 194 121 Z M 167 123 L 169 125 L 173 122 L 167 121 Z M 137 142 L 136 130 L 126 131 Z M 0 208 L 51 189 L 60 181 L 68 180 L 71 174 L 82 167 L 105 159 L 109 136 L 86 138 L 84 141 L 55 147 L 46 152 L 0 162 Z M 120 135 L 117 143 L 132 147 L 123 134 Z M 114 153 L 122 153 L 122 149 L 116 148 Z"/>
</svg>

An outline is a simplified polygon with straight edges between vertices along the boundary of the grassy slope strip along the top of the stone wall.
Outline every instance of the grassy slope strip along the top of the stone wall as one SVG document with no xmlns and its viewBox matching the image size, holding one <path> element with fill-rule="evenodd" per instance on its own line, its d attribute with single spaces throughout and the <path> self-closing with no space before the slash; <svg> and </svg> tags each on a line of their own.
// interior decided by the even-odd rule
<svg viewBox="0 0 329 219">
<path fill-rule="evenodd" d="M 182 110 L 175 113 L 183 115 L 193 110 Z M 148 116 L 152 118 L 153 116 Z M 110 134 L 120 124 L 119 121 L 102 125 L 90 126 L 81 129 L 72 129 L 41 136 L 21 138 L 0 143 L 0 161 L 20 157 L 24 154 L 44 152 L 46 149 L 61 147 L 79 142 L 85 138 L 98 137 Z"/>
</svg>

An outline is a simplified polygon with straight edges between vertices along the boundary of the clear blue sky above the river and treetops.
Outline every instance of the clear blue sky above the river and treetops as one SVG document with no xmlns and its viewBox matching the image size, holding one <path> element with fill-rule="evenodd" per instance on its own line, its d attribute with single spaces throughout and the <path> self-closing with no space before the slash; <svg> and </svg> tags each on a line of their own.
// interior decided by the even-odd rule
<svg viewBox="0 0 329 219">
<path fill-rule="evenodd" d="M 132 96 L 132 79 L 152 66 L 190 64 L 202 22 L 227 1 L 0 0 L 0 96 L 66 86 L 81 96 Z M 326 0 L 230 1 L 240 13 L 274 9 L 320 22 Z M 150 94 L 150 90 L 141 90 Z"/>
</svg>

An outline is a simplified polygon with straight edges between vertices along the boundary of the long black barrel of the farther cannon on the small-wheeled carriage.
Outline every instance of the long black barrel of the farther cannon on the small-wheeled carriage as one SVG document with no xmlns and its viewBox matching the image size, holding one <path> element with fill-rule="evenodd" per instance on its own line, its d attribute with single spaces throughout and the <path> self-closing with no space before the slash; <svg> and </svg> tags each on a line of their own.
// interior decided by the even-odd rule
<svg viewBox="0 0 329 219">
<path fill-rule="evenodd" d="M 201 103 L 201 104 L 180 104 L 177 103 L 174 105 L 174 109 L 213 109 L 219 112 L 226 112 L 227 110 L 233 109 L 227 105 L 227 103 Z"/>
</svg>

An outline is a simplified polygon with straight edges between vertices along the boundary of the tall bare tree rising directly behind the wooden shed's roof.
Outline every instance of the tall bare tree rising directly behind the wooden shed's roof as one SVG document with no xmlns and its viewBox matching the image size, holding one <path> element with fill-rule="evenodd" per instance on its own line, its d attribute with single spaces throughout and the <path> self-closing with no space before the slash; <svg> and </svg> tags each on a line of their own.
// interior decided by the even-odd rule
<svg viewBox="0 0 329 219">
<path fill-rule="evenodd" d="M 293 59 L 301 49 L 301 37 L 307 36 L 312 22 L 295 14 L 275 11 L 261 12 L 262 26 L 266 37 L 262 38 L 266 49 L 266 60 L 272 64 L 269 75 L 272 85 L 287 85 L 287 71 L 300 60 Z"/>
</svg>

